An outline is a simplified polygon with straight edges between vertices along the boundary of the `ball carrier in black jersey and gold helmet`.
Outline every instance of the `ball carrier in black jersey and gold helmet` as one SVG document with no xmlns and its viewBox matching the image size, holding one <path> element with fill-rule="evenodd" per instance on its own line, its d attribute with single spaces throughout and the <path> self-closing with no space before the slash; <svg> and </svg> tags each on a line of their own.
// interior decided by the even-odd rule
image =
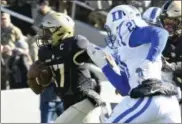
<svg viewBox="0 0 182 124">
<path fill-rule="evenodd" d="M 99 123 L 100 106 L 105 106 L 99 95 L 99 79 L 97 75 L 93 78 L 86 65 L 90 62 L 85 51 L 89 41 L 84 36 L 75 36 L 74 27 L 74 21 L 65 14 L 45 16 L 41 23 L 42 34 L 37 40 L 38 61 L 49 66 L 56 92 L 63 100 L 65 112 L 55 122 Z M 42 92 L 47 84 L 44 86 L 38 82 L 37 86 Z"/>
</svg>

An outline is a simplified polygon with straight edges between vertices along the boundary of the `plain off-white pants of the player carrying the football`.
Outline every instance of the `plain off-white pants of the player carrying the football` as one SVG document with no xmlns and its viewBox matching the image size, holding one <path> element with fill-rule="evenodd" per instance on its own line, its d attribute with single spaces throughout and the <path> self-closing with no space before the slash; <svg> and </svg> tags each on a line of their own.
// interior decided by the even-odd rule
<svg viewBox="0 0 182 124">
<path fill-rule="evenodd" d="M 94 107 L 88 99 L 85 99 L 70 106 L 54 123 L 100 123 L 101 113 L 101 107 Z"/>
</svg>

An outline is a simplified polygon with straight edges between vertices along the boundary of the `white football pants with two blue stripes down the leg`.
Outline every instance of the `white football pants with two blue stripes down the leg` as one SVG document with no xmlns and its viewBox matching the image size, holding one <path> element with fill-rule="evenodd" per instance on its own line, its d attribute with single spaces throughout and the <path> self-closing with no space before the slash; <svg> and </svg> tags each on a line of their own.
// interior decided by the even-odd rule
<svg viewBox="0 0 182 124">
<path fill-rule="evenodd" d="M 126 96 L 106 123 L 181 123 L 181 110 L 175 96 L 139 99 Z"/>
</svg>

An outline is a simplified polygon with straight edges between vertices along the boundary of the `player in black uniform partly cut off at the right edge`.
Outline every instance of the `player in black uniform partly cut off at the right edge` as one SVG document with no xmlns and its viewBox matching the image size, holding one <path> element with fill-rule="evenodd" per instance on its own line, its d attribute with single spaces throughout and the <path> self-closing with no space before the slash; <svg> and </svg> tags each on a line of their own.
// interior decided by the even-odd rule
<svg viewBox="0 0 182 124">
<path fill-rule="evenodd" d="M 169 0 L 162 7 L 160 19 L 170 37 L 163 51 L 173 73 L 173 80 L 182 89 L 182 1 Z"/>
</svg>

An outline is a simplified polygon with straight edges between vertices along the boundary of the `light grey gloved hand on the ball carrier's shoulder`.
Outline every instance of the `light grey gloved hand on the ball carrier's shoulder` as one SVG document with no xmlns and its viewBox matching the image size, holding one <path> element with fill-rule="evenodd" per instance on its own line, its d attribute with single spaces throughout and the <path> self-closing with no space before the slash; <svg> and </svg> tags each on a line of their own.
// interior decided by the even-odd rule
<svg viewBox="0 0 182 124">
<path fill-rule="evenodd" d="M 84 37 L 82 35 L 77 35 L 76 39 L 77 39 L 77 46 L 79 48 L 81 48 L 81 49 L 87 48 L 87 46 L 89 44 L 89 40 L 86 37 Z"/>
</svg>

